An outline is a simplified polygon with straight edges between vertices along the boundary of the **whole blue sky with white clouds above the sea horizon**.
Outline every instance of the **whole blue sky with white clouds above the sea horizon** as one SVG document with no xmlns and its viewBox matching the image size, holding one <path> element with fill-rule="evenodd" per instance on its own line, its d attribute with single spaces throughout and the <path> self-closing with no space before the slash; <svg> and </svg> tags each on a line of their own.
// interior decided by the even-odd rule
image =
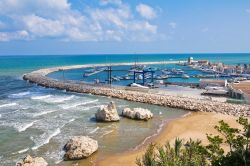
<svg viewBox="0 0 250 166">
<path fill-rule="evenodd" d="M 250 0 L 0 0 L 0 55 L 233 52 Z"/>
</svg>

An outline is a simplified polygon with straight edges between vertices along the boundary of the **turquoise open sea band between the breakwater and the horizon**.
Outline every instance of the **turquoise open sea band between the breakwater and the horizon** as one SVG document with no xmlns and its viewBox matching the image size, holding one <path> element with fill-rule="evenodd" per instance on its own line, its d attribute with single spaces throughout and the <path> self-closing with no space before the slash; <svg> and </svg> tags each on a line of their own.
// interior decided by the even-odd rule
<svg viewBox="0 0 250 166">
<path fill-rule="evenodd" d="M 146 54 L 146 55 L 46 55 L 46 56 L 0 56 L 0 75 L 20 75 L 34 69 L 110 62 L 137 61 L 169 61 L 186 60 L 189 56 L 194 59 L 207 59 L 212 62 L 226 64 L 250 63 L 250 54 Z"/>
</svg>

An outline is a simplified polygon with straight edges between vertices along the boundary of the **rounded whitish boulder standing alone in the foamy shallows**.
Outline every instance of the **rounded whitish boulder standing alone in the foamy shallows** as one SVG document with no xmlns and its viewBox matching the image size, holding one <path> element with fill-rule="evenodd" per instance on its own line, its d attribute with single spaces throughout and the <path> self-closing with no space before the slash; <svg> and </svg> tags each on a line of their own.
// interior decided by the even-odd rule
<svg viewBox="0 0 250 166">
<path fill-rule="evenodd" d="M 98 149 L 98 142 L 86 136 L 75 136 L 71 138 L 64 150 L 64 160 L 80 160 L 89 157 Z"/>
</svg>

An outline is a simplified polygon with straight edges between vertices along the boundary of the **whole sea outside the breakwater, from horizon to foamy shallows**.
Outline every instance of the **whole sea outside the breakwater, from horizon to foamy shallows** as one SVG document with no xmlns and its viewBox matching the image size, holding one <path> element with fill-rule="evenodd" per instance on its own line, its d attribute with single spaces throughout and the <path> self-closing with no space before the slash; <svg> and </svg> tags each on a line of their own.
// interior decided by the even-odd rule
<svg viewBox="0 0 250 166">
<path fill-rule="evenodd" d="M 141 146 L 159 133 L 163 124 L 187 113 L 180 109 L 43 88 L 24 81 L 23 74 L 64 65 L 179 61 L 190 56 L 194 60 L 230 65 L 250 64 L 250 54 L 240 53 L 0 56 L 0 165 L 14 165 L 26 154 L 43 157 L 49 165 L 92 165 L 92 160 Z M 69 78 L 75 77 L 70 74 Z M 59 76 L 52 74 L 51 77 Z M 121 118 L 118 123 L 96 123 L 95 112 L 110 101 L 116 103 L 119 113 L 125 107 L 141 107 L 151 110 L 154 118 L 148 122 Z M 91 159 L 63 161 L 64 144 L 78 135 L 98 140 L 98 152 Z"/>
</svg>

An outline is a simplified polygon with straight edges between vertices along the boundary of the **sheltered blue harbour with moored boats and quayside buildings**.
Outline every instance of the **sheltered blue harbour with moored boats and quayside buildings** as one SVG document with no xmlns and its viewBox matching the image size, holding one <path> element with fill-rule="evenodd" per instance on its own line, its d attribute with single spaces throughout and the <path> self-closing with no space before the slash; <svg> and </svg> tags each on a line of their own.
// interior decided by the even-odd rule
<svg viewBox="0 0 250 166">
<path fill-rule="evenodd" d="M 233 68 L 233 66 L 230 67 Z M 229 66 L 223 66 L 221 63 L 212 64 L 208 60 L 195 61 L 189 57 L 187 61 L 170 61 L 168 63 L 102 64 L 60 70 L 51 72 L 48 76 L 58 80 L 80 81 L 99 86 L 125 86 L 133 87 L 133 89 L 166 90 L 166 87 L 170 85 L 191 87 L 201 89 L 201 96 L 221 96 L 232 101 L 231 99 L 234 97 L 230 95 L 229 87 L 232 84 L 247 82 L 250 79 L 249 68 L 245 65 L 245 69 L 243 68 L 241 71 L 235 69 L 231 73 L 227 73 L 227 68 Z M 234 68 L 239 67 L 234 66 Z M 246 99 L 242 97 L 240 102 L 249 103 Z"/>
</svg>

